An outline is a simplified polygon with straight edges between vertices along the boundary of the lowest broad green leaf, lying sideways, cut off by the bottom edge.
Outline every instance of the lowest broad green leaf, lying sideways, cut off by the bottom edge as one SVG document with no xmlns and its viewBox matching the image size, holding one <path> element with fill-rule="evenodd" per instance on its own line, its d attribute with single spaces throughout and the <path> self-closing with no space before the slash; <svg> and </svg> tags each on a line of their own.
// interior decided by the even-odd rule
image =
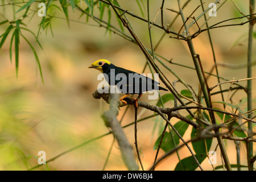
<svg viewBox="0 0 256 182">
<path fill-rule="evenodd" d="M 196 154 L 195 155 L 196 159 L 198 160 L 199 164 L 201 164 L 205 158 L 207 158 L 207 155 L 205 154 Z M 182 164 L 182 166 L 181 166 Z M 193 156 L 189 156 L 187 158 L 184 158 L 182 160 L 180 160 L 179 163 L 177 163 L 176 167 L 175 167 L 175 171 L 195 171 L 196 168 L 198 167 L 195 159 L 193 158 Z"/>
</svg>

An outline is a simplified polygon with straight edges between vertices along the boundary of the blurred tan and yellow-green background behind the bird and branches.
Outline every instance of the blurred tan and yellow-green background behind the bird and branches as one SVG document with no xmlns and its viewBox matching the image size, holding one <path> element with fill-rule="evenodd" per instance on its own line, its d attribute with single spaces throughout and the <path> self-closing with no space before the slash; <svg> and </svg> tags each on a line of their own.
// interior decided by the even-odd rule
<svg viewBox="0 0 256 182">
<path fill-rule="evenodd" d="M 119 2 L 121 7 L 129 10 L 134 14 L 147 19 L 147 1 L 139 1 L 144 14 L 140 11 L 136 1 Z M 158 8 L 162 1 L 150 2 L 150 19 L 154 20 L 158 13 Z M 185 1 L 181 1 L 184 3 Z M 204 1 L 205 8 L 212 1 Z M 249 14 L 249 1 L 234 1 L 240 7 L 241 11 Z M 7 1 L 0 2 L 0 22 L 4 20 L 16 20 L 22 18 L 24 10 L 15 14 L 23 4 L 18 6 L 7 5 Z M 60 6 L 59 2 L 53 2 Z M 33 10 L 37 9 L 38 3 L 31 6 Z M 82 9 L 86 8 L 85 2 L 78 3 Z M 196 7 L 200 5 L 200 1 L 192 1 L 184 14 L 189 16 Z M 218 6 L 218 5 L 217 5 Z M 177 1 L 168 1 L 164 8 L 179 10 Z M 40 78 L 38 64 L 36 64 L 34 53 L 31 51 L 27 42 L 20 38 L 19 44 L 19 69 L 18 76 L 15 72 L 15 59 L 13 51 L 13 61 L 10 62 L 9 35 L 5 44 L 0 49 L 0 170 L 27 170 L 38 165 L 39 151 L 46 152 L 46 160 L 52 159 L 62 152 L 68 151 L 73 147 L 95 139 L 101 135 L 108 133 L 108 129 L 104 125 L 101 118 L 102 113 L 109 109 L 109 105 L 102 100 L 93 98 L 92 93 L 97 89 L 100 81 L 97 76 L 100 72 L 94 69 L 88 69 L 88 66 L 98 59 L 110 60 L 113 64 L 126 69 L 141 73 L 146 63 L 141 50 L 135 44 L 123 39 L 122 37 L 106 31 L 104 27 L 99 27 L 92 19 L 86 22 L 86 16 L 80 17 L 81 12 L 72 11 L 68 7 L 69 24 L 65 19 L 65 15 L 59 9 L 51 9 L 54 17 L 51 20 L 51 30 L 48 28 L 40 32 L 39 42 L 43 50 L 36 44 L 35 37 L 27 31 L 22 30 L 22 34 L 35 47 L 36 52 L 42 66 L 44 83 Z M 195 16 L 201 14 L 199 8 Z M 48 13 L 48 12 L 47 12 Z M 99 17 L 98 7 L 94 7 L 94 16 Z M 164 24 L 170 23 L 176 14 L 164 9 Z M 217 11 L 217 16 L 209 20 L 209 24 L 220 22 L 221 20 L 241 16 L 233 3 L 228 1 Z M 136 34 L 143 41 L 144 45 L 150 48 L 148 38 L 148 27 L 146 22 L 141 22 L 132 16 L 127 15 Z M 108 12 L 105 11 L 104 19 L 108 20 Z M 39 24 L 42 17 L 37 14 L 24 20 L 26 26 L 37 34 Z M 234 20 L 229 23 L 240 23 L 247 19 Z M 160 24 L 160 13 L 155 19 Z M 191 21 L 190 21 L 191 22 Z M 204 19 L 199 20 L 199 24 Z M 112 12 L 112 24 L 119 28 L 117 18 Z M 172 26 L 172 30 L 178 32 L 182 26 L 182 21 L 177 18 Z M 0 34 L 2 35 L 9 23 L 0 26 Z M 216 28 L 211 31 L 213 38 L 213 46 L 216 53 L 217 63 L 225 65 L 238 65 L 238 67 L 219 66 L 220 76 L 228 80 L 246 78 L 246 61 L 247 61 L 247 32 L 248 24 L 244 26 L 232 26 L 224 28 Z M 163 30 L 152 26 L 152 42 L 155 45 L 161 36 Z M 197 31 L 194 25 L 191 32 Z M 129 32 L 125 30 L 127 35 Z M 183 40 L 170 39 L 170 35 L 165 35 L 156 52 L 171 60 L 174 63 L 193 67 L 191 55 L 188 46 Z M 255 37 L 254 37 L 255 38 Z M 209 72 L 212 69 L 213 56 L 209 44 L 207 32 L 200 34 L 193 40 L 196 52 L 200 54 L 203 61 L 204 70 Z M 254 41 L 254 50 L 256 48 Z M 14 45 L 13 45 L 14 49 Z M 255 61 L 255 51 L 253 55 Z M 195 89 L 197 93 L 199 81 L 196 72 L 192 69 L 180 67 L 165 62 L 177 75 Z M 160 66 L 160 64 L 159 64 Z M 160 66 L 166 73 L 170 81 L 176 80 L 176 77 Z M 255 76 L 255 68 L 253 68 L 253 77 Z M 150 73 L 150 69 L 146 68 L 144 73 Z M 213 72 L 216 73 L 215 71 Z M 223 80 L 222 80 L 223 81 Z M 209 78 L 209 86 L 217 84 L 216 77 Z M 246 82 L 240 82 L 246 86 Z M 160 84 L 163 86 L 163 84 Z M 223 88 L 229 88 L 226 84 Z M 253 81 L 253 90 L 255 84 Z M 184 86 L 177 84 L 177 90 L 185 89 Z M 216 88 L 214 91 L 218 91 Z M 161 91 L 160 94 L 166 94 Z M 224 94 L 227 96 L 227 94 Z M 255 93 L 253 93 L 255 98 Z M 214 96 L 213 101 L 220 101 L 220 95 Z M 147 100 L 147 94 L 144 94 L 142 101 L 150 104 L 156 104 L 157 100 Z M 242 110 L 246 110 L 246 94 L 242 90 L 236 93 L 233 98 L 234 104 L 239 104 Z M 240 103 L 241 102 L 241 103 Z M 166 107 L 172 107 L 173 102 L 168 102 Z M 216 104 L 216 107 L 220 104 Z M 254 105 L 255 107 L 255 105 Z M 125 113 L 125 107 L 122 107 L 118 114 L 121 119 Z M 154 114 L 143 108 L 138 110 L 138 119 Z M 134 109 L 130 107 L 122 120 L 122 126 L 134 122 Z M 173 123 L 177 122 L 175 119 Z M 164 122 L 159 117 L 146 119 L 138 123 L 138 145 L 141 151 L 142 162 L 144 168 L 151 167 L 154 162 L 156 150 L 153 149 L 155 140 L 162 133 Z M 192 127 L 184 135 L 184 139 L 190 137 Z M 130 143 L 134 143 L 134 127 L 133 125 L 124 129 Z M 61 155 L 52 162 L 42 165 L 36 169 L 40 170 L 102 170 L 106 162 L 110 146 L 113 142 L 112 135 L 106 135 L 92 142 L 88 142 L 81 147 L 76 148 L 67 154 Z M 212 150 L 216 148 L 216 140 L 213 140 Z M 230 163 L 236 163 L 236 153 L 234 142 L 226 141 L 227 152 Z M 255 147 L 254 147 L 255 151 Z M 217 150 L 217 164 L 222 165 L 220 151 Z M 134 152 L 135 154 L 135 152 Z M 159 156 L 164 152 L 160 150 Z M 180 158 L 183 159 L 190 156 L 187 148 L 179 150 Z M 241 144 L 241 164 L 246 165 L 246 148 Z M 179 162 L 177 155 L 171 155 L 167 160 L 160 163 L 156 170 L 173 170 Z M 204 169 L 212 170 L 208 161 L 202 163 Z M 118 149 L 118 144 L 114 143 L 113 149 L 109 156 L 106 170 L 126 170 L 122 162 Z"/>
</svg>

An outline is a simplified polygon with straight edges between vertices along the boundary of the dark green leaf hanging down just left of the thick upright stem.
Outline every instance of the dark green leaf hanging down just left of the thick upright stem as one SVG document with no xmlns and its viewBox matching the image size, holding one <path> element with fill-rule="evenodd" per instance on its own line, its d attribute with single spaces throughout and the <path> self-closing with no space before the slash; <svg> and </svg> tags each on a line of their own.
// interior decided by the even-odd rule
<svg viewBox="0 0 256 182">
<path fill-rule="evenodd" d="M 208 115 L 205 112 L 203 112 L 203 114 L 204 114 L 205 118 L 207 118 L 209 121 Z M 204 125 L 204 127 L 206 127 L 206 126 Z M 191 139 L 197 137 L 197 135 L 199 135 L 199 131 L 193 127 L 192 131 L 191 131 Z M 207 144 L 207 147 L 205 146 L 205 142 Z M 191 143 L 192 143 L 193 149 L 196 152 L 196 154 L 205 154 L 206 155 L 207 151 L 209 152 L 210 146 L 212 145 L 212 138 L 201 139 L 199 141 L 193 141 Z M 207 150 L 206 150 L 206 148 L 207 148 Z"/>
</svg>

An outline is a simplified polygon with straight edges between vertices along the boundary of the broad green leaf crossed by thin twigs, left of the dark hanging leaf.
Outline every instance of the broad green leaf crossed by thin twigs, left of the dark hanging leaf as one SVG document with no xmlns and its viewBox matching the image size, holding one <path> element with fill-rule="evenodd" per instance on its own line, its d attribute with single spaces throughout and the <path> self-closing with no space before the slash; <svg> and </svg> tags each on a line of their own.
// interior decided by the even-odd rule
<svg viewBox="0 0 256 182">
<path fill-rule="evenodd" d="M 174 125 L 175 129 L 178 131 L 178 133 L 183 137 L 185 131 L 188 129 L 188 123 L 184 121 L 179 121 L 175 123 Z M 158 137 L 154 144 L 154 150 L 156 150 L 159 146 L 160 140 L 162 138 L 162 134 Z M 170 151 L 172 148 L 176 147 L 179 144 L 180 138 L 178 135 L 175 133 L 174 130 L 171 130 L 171 133 L 166 132 L 164 134 L 161 147 L 163 151 L 167 152 Z"/>
</svg>

